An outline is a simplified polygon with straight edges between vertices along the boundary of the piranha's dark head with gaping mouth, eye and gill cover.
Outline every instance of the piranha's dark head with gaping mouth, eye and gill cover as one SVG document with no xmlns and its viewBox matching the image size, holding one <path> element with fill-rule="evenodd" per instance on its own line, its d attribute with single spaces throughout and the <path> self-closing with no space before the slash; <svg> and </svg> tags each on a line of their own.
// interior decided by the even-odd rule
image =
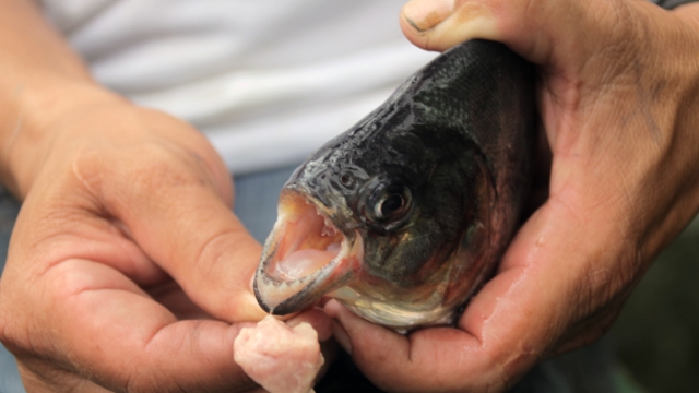
<svg viewBox="0 0 699 393">
<path fill-rule="evenodd" d="M 450 321 L 484 277 L 493 184 L 483 157 L 459 151 L 455 166 L 416 139 L 394 154 L 379 147 L 362 159 L 346 154 L 356 146 L 330 146 L 283 188 L 253 285 L 265 311 L 330 296 L 372 322 L 412 329 Z M 414 150 L 431 158 L 406 162 Z"/>
</svg>

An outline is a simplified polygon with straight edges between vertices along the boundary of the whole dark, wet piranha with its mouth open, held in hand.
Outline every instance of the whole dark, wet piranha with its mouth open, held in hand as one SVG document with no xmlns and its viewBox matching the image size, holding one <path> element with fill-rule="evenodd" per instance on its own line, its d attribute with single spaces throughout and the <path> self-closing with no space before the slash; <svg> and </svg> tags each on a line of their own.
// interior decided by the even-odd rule
<svg viewBox="0 0 699 393">
<path fill-rule="evenodd" d="M 323 296 L 398 331 L 453 322 L 521 218 L 534 68 L 463 43 L 310 155 L 282 189 L 253 279 L 272 314 Z"/>
</svg>

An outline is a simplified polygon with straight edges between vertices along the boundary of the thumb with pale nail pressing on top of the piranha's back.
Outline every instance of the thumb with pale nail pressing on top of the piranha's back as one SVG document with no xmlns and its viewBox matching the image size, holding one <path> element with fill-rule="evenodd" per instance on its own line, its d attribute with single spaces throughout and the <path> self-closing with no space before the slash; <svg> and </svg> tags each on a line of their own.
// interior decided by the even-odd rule
<svg viewBox="0 0 699 393">
<path fill-rule="evenodd" d="M 591 31 L 614 33 L 624 9 L 625 2 L 617 0 L 412 0 L 403 7 L 401 27 L 424 49 L 442 51 L 484 38 L 543 64 L 556 52 L 593 52 L 595 48 L 584 46 L 595 40 L 581 37 Z"/>
</svg>

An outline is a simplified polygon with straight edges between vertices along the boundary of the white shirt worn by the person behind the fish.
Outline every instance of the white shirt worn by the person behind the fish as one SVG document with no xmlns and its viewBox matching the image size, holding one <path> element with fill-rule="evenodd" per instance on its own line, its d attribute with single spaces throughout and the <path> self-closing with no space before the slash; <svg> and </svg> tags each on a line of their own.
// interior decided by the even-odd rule
<svg viewBox="0 0 699 393">
<path fill-rule="evenodd" d="M 435 55 L 404 0 L 42 0 L 105 86 L 204 132 L 232 171 L 300 163 Z"/>
</svg>

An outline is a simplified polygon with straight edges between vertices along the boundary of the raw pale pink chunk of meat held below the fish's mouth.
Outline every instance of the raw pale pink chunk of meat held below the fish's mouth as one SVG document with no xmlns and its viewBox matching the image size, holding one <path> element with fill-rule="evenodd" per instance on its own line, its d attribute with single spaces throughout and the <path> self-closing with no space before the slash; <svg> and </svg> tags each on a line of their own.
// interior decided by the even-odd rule
<svg viewBox="0 0 699 393">
<path fill-rule="evenodd" d="M 234 343 L 234 359 L 270 393 L 312 392 L 324 362 L 318 333 L 301 322 L 293 329 L 268 315 L 254 327 L 244 327 Z"/>
</svg>

